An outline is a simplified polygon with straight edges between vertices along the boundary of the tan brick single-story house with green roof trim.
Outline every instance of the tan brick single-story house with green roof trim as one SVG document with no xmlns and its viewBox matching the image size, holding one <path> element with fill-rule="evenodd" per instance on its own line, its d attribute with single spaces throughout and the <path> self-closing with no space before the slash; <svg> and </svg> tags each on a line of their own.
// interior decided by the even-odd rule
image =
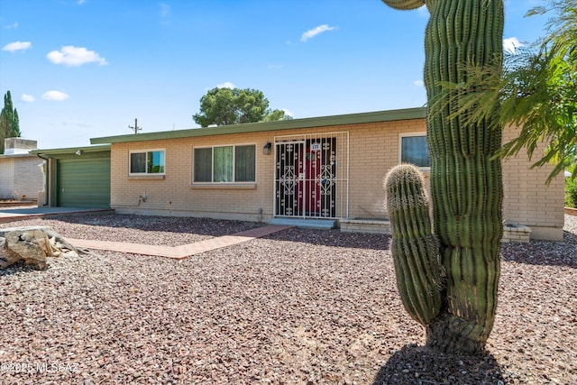
<svg viewBox="0 0 577 385">
<path fill-rule="evenodd" d="M 427 175 L 426 109 L 411 108 L 91 139 L 110 144 L 119 213 L 270 222 L 334 220 L 387 231 L 382 182 L 401 161 Z M 513 130 L 506 130 L 511 137 Z M 504 163 L 505 239 L 563 238 L 563 178 Z"/>
</svg>

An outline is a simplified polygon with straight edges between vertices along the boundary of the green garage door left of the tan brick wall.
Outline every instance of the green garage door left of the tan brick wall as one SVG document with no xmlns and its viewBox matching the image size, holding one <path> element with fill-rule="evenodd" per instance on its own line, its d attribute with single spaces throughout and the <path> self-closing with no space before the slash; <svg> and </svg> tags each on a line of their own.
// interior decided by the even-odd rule
<svg viewBox="0 0 577 385">
<path fill-rule="evenodd" d="M 110 207 L 110 158 L 58 160 L 58 206 Z"/>
</svg>

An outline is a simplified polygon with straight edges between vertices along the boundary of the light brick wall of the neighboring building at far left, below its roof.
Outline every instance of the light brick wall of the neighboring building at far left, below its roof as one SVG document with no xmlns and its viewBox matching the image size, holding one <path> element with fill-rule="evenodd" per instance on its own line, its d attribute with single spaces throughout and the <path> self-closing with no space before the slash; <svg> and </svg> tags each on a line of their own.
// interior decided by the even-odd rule
<svg viewBox="0 0 577 385">
<path fill-rule="evenodd" d="M 0 197 L 36 199 L 44 189 L 44 176 L 35 156 L 0 157 Z"/>
</svg>

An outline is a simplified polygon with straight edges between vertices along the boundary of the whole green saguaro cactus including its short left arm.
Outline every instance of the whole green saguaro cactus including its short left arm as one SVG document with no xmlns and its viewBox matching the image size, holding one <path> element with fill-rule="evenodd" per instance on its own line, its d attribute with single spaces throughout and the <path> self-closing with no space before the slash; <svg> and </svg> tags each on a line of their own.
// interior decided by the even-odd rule
<svg viewBox="0 0 577 385">
<path fill-rule="evenodd" d="M 397 9 L 426 5 L 430 13 L 425 86 L 434 232 L 421 208 L 418 170 L 391 171 L 385 188 L 399 294 L 425 326 L 428 347 L 480 353 L 495 320 L 500 273 L 503 188 L 495 154 L 501 129 L 492 117 L 499 116 L 499 105 L 492 115 L 466 122 L 468 111 L 457 113 L 466 93 L 447 92 L 441 84 L 467 82 L 466 63 L 500 70 L 503 0 L 383 1 Z"/>
</svg>

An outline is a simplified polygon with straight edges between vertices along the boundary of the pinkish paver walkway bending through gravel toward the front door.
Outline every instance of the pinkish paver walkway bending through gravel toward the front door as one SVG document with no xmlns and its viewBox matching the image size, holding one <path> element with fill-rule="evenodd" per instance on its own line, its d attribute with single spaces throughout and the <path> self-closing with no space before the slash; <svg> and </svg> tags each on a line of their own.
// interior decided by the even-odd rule
<svg viewBox="0 0 577 385">
<path fill-rule="evenodd" d="M 292 226 L 289 225 L 266 225 L 247 230 L 233 235 L 224 235 L 215 238 L 206 239 L 196 243 L 183 244 L 181 246 L 157 246 L 151 244 L 124 243 L 94 241 L 85 239 L 67 238 L 67 241 L 79 249 L 96 249 L 107 250 L 111 252 L 128 252 L 132 254 L 154 255 L 165 258 L 182 260 L 191 255 L 200 252 L 220 249 L 237 243 L 250 241 L 261 236 L 277 233 L 286 230 Z"/>
</svg>

